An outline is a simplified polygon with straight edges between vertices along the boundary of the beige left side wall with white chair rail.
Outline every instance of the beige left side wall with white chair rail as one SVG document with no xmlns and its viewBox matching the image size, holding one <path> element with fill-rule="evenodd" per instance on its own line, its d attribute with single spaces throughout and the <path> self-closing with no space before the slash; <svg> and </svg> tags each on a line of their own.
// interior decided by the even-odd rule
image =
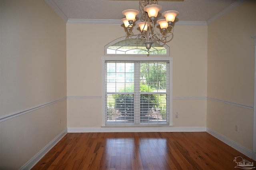
<svg viewBox="0 0 256 170">
<path fill-rule="evenodd" d="M 0 1 L 0 116 L 20 112 L 0 123 L 0 169 L 21 168 L 66 129 L 66 23 L 44 0 Z"/>
</svg>

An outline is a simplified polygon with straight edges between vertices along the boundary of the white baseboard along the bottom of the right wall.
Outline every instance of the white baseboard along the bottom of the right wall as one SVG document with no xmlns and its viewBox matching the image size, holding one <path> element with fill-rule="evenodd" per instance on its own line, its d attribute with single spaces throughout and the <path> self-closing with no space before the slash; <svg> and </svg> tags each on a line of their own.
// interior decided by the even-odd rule
<svg viewBox="0 0 256 170">
<path fill-rule="evenodd" d="M 253 156 L 253 151 L 249 150 L 247 148 L 245 148 L 244 146 L 234 142 L 233 140 L 230 140 L 229 138 L 227 138 L 226 136 L 210 129 L 210 128 L 206 128 L 206 132 L 208 132 L 209 134 L 211 134 L 212 136 L 218 138 L 219 140 L 221 140 L 222 142 L 226 143 L 227 145 L 231 146 L 232 148 L 238 150 L 239 152 L 241 152 L 242 154 L 248 156 L 249 158 L 252 158 Z"/>
</svg>

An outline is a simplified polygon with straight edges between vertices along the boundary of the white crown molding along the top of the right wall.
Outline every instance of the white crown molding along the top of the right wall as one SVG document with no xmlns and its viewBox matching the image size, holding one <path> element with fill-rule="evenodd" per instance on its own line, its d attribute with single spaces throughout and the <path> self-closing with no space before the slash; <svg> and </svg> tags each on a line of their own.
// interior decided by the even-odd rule
<svg viewBox="0 0 256 170">
<path fill-rule="evenodd" d="M 232 4 L 230 4 L 228 7 L 226 7 L 224 10 L 220 11 L 218 14 L 216 14 L 215 16 L 213 16 L 212 18 L 210 18 L 207 21 L 207 25 L 210 25 L 212 22 L 214 22 L 215 20 L 218 20 L 220 17 L 228 14 L 229 12 L 231 12 L 232 10 L 234 10 L 236 7 L 240 6 L 241 4 L 243 4 L 244 2 L 246 2 L 247 0 L 236 0 L 235 2 L 233 2 Z"/>
</svg>

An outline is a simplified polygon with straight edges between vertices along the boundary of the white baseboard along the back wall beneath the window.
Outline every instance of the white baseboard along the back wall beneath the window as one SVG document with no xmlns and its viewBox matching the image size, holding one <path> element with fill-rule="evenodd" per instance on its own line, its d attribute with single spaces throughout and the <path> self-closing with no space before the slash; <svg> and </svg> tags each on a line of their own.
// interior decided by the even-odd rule
<svg viewBox="0 0 256 170">
<path fill-rule="evenodd" d="M 68 132 L 206 132 L 206 127 L 68 127 Z"/>
</svg>

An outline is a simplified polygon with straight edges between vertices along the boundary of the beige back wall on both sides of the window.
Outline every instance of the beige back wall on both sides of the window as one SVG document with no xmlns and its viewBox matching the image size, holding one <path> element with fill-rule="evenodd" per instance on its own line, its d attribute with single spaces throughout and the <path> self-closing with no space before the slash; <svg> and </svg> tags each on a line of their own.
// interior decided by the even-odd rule
<svg viewBox="0 0 256 170">
<path fill-rule="evenodd" d="M 175 127 L 206 127 L 207 26 L 174 26 Z M 101 57 L 104 46 L 125 36 L 120 25 L 67 24 L 68 128 L 102 125 Z M 81 97 L 81 98 L 79 98 Z"/>
</svg>

